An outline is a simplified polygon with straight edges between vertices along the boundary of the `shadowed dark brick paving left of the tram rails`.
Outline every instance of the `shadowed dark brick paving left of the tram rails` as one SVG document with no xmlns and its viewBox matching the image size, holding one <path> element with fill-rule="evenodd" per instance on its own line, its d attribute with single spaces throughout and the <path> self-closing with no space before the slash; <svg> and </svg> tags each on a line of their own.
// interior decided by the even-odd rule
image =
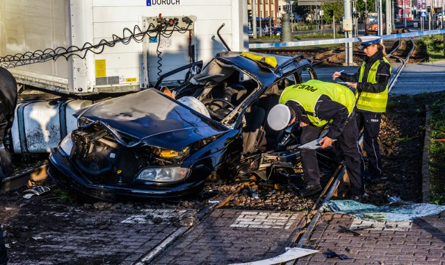
<svg viewBox="0 0 445 265">
<path fill-rule="evenodd" d="M 6 229 L 9 265 L 133 264 L 174 232 L 185 210 L 92 207 L 14 208 L 26 227 Z M 188 210 L 195 212 L 196 210 Z M 13 227 L 17 222 L 7 220 Z M 51 225 L 44 225 L 50 223 Z M 8 233 L 8 232 L 7 232 Z M 27 248 L 21 252 L 19 249 Z"/>
</svg>

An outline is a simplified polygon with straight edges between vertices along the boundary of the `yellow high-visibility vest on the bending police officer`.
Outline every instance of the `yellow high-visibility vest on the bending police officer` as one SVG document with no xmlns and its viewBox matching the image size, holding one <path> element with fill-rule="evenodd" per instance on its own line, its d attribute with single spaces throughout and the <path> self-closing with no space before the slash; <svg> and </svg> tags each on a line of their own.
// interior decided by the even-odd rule
<svg viewBox="0 0 445 265">
<path fill-rule="evenodd" d="M 329 96 L 332 101 L 345 106 L 349 114 L 353 111 L 355 95 L 348 87 L 320 80 L 309 80 L 300 85 L 286 87 L 280 96 L 280 104 L 284 104 L 286 101 L 296 101 L 302 105 L 309 121 L 314 126 L 321 127 L 329 122 L 318 119 L 315 113 L 315 105 L 323 95 Z"/>
</svg>

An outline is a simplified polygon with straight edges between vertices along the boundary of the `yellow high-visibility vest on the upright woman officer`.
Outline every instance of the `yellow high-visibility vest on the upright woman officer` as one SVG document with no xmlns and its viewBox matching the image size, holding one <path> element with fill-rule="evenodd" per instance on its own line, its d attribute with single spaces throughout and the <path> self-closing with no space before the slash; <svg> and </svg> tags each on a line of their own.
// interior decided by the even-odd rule
<svg viewBox="0 0 445 265">
<path fill-rule="evenodd" d="M 383 60 L 389 64 L 387 58 L 383 58 Z M 365 62 L 362 63 L 359 71 L 359 82 L 361 83 L 364 75 L 364 65 Z M 368 72 L 368 78 L 366 82 L 376 84 L 376 76 L 377 69 L 380 65 L 380 60 L 377 60 L 371 66 Z M 391 65 L 389 64 L 389 72 L 391 73 Z M 389 84 L 388 84 L 389 85 Z M 380 93 L 372 93 L 372 92 L 357 92 L 356 96 L 357 100 L 357 109 L 359 110 L 367 110 L 371 112 L 385 112 L 387 110 L 387 102 L 388 102 L 388 85 L 385 88 L 385 91 Z"/>
</svg>

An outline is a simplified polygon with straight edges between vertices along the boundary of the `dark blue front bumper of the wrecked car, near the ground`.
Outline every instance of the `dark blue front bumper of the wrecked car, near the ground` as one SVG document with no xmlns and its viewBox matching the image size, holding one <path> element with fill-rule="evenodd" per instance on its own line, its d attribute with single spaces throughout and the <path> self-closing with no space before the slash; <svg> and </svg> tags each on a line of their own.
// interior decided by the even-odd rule
<svg viewBox="0 0 445 265">
<path fill-rule="evenodd" d="M 114 202 L 121 198 L 153 198 L 163 200 L 179 200 L 181 198 L 197 196 L 204 187 L 205 180 L 180 183 L 170 187 L 147 185 L 147 189 L 134 189 L 118 185 L 101 185 L 90 182 L 79 176 L 74 166 L 57 149 L 49 155 L 48 176 L 58 185 L 74 191 L 86 198 Z"/>
</svg>

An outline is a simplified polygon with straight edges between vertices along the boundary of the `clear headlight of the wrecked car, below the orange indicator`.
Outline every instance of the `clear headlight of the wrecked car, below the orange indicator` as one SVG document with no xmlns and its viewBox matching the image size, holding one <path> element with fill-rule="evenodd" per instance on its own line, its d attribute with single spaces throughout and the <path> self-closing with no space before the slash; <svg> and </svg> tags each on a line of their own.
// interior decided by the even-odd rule
<svg viewBox="0 0 445 265">
<path fill-rule="evenodd" d="M 189 173 L 190 169 L 184 167 L 152 167 L 140 171 L 136 179 L 156 182 L 175 182 L 184 180 Z"/>
</svg>

